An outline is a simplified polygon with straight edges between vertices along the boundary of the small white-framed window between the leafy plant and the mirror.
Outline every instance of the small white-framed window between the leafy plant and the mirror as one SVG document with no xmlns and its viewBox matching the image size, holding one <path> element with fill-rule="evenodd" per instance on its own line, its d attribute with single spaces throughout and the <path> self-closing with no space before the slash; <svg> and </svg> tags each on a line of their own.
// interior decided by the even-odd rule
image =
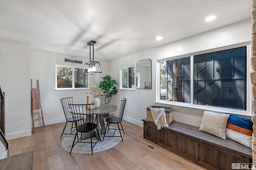
<svg viewBox="0 0 256 170">
<path fill-rule="evenodd" d="M 135 89 L 134 66 L 120 69 L 120 89 Z"/>
</svg>

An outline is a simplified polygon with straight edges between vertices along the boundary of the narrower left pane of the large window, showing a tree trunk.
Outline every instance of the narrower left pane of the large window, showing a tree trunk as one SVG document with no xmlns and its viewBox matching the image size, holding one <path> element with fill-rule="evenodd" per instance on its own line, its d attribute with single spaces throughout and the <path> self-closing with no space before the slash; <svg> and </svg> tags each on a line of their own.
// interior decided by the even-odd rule
<svg viewBox="0 0 256 170">
<path fill-rule="evenodd" d="M 160 63 L 160 99 L 190 103 L 190 57 Z"/>
</svg>

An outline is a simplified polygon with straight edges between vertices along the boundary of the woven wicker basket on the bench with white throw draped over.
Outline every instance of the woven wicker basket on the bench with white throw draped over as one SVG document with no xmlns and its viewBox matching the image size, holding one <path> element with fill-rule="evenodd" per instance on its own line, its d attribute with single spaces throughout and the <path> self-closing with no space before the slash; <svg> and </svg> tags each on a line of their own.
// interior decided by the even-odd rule
<svg viewBox="0 0 256 170">
<path fill-rule="evenodd" d="M 163 107 L 163 106 L 148 106 L 147 107 L 147 119 L 148 121 L 154 122 L 152 113 L 150 108 L 164 108 L 165 110 L 165 117 L 168 125 L 170 125 L 173 121 L 173 108 L 172 107 Z"/>
</svg>

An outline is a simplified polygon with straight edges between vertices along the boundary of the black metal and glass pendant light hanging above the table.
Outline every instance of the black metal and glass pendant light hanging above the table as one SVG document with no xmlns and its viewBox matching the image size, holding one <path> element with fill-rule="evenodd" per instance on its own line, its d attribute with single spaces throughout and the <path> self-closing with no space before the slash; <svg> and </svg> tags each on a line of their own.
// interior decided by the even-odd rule
<svg viewBox="0 0 256 170">
<path fill-rule="evenodd" d="M 94 61 L 94 44 L 96 41 L 90 41 L 90 62 L 84 64 L 84 74 L 99 74 L 101 73 L 100 62 Z M 91 61 L 91 46 L 92 46 L 92 61 Z"/>
</svg>

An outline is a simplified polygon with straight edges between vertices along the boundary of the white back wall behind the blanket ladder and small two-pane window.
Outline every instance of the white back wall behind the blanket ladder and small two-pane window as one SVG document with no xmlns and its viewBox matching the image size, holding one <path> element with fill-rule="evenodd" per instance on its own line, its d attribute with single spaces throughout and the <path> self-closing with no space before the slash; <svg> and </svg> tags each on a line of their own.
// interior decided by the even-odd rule
<svg viewBox="0 0 256 170">
<path fill-rule="evenodd" d="M 82 59 L 82 64 L 67 63 L 64 62 L 65 57 L 72 59 L 82 59 L 78 57 L 31 51 L 31 79 L 33 79 L 34 88 L 36 88 L 36 79 L 39 80 L 42 109 L 44 113 L 48 113 L 48 116 L 44 116 L 45 125 L 66 121 L 60 103 L 61 98 L 73 97 L 75 103 L 86 103 L 86 90 L 54 90 L 55 64 L 84 68 L 84 64 L 89 61 L 89 59 Z M 102 74 L 90 75 L 90 86 L 92 83 L 97 84 L 98 86 L 99 82 L 102 80 L 100 77 L 108 74 L 108 62 L 100 61 L 100 66 L 102 68 Z M 92 95 L 89 96 L 91 101 Z M 42 126 L 41 119 L 35 122 L 35 126 Z"/>
</svg>

